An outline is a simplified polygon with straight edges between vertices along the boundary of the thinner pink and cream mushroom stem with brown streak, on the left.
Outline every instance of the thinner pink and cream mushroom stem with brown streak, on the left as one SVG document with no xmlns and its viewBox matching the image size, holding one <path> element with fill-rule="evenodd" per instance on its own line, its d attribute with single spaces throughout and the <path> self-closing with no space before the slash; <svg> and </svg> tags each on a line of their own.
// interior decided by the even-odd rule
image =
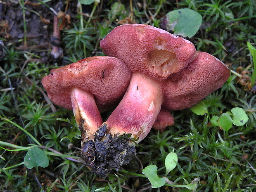
<svg viewBox="0 0 256 192">
<path fill-rule="evenodd" d="M 97 128 L 102 124 L 102 118 L 95 103 L 94 95 L 90 91 L 73 88 L 70 97 L 83 144 L 87 140 L 94 139 Z"/>
</svg>

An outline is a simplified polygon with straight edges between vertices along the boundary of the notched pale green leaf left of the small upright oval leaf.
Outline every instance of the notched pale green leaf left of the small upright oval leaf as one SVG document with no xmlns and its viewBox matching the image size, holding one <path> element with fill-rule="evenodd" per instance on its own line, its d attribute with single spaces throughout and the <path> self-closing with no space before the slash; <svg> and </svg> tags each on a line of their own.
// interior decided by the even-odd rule
<svg viewBox="0 0 256 192">
<path fill-rule="evenodd" d="M 165 179 L 159 178 L 156 171 L 156 165 L 149 165 L 142 170 L 142 173 L 149 179 L 152 188 L 159 188 L 165 184 Z"/>
</svg>

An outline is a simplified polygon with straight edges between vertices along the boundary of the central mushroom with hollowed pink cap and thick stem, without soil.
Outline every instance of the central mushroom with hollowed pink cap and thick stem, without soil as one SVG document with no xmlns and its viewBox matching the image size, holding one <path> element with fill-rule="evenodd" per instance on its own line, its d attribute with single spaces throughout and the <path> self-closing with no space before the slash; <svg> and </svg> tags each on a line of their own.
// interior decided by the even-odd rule
<svg viewBox="0 0 256 192">
<path fill-rule="evenodd" d="M 110 132 L 132 133 L 140 142 L 164 102 L 164 79 L 189 64 L 195 47 L 188 40 L 145 24 L 118 26 L 100 46 L 106 55 L 122 59 L 133 72 L 126 95 L 107 120 Z"/>
</svg>

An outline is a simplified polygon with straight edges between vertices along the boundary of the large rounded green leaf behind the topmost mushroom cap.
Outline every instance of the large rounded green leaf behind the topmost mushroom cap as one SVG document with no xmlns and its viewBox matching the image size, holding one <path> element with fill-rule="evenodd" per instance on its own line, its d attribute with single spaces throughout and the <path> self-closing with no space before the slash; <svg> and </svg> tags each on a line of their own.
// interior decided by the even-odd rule
<svg viewBox="0 0 256 192">
<path fill-rule="evenodd" d="M 189 37 L 194 36 L 202 24 L 202 16 L 192 9 L 178 9 L 166 14 L 168 31 L 174 35 Z"/>
</svg>

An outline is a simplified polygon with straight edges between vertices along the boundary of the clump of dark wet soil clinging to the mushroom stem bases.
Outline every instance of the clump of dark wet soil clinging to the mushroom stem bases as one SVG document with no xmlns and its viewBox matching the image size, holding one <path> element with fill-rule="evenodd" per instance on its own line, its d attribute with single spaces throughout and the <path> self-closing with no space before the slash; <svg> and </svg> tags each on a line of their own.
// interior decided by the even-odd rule
<svg viewBox="0 0 256 192">
<path fill-rule="evenodd" d="M 107 123 L 95 133 L 95 139 L 83 143 L 81 155 L 88 168 L 100 177 L 106 177 L 112 169 L 116 171 L 128 164 L 136 149 L 126 135 L 111 135 Z"/>
</svg>

